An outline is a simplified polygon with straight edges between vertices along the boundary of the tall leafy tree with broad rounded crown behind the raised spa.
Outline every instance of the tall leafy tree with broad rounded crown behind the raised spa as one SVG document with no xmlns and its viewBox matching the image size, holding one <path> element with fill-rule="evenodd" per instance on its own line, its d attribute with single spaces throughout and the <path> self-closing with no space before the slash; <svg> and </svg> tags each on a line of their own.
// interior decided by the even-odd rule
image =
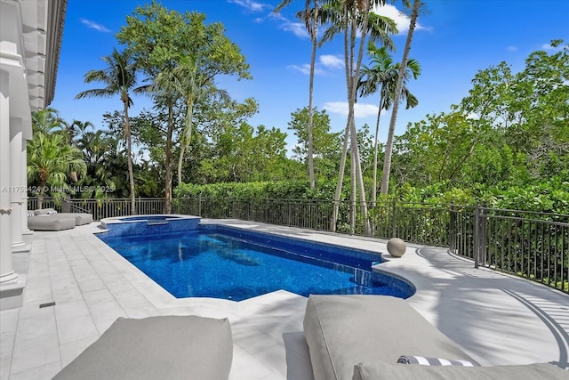
<svg viewBox="0 0 569 380">
<path fill-rule="evenodd" d="M 205 25 L 205 15 L 199 12 L 170 11 L 160 3 L 137 7 L 127 17 L 127 25 L 117 33 L 121 44 L 127 45 L 137 63 L 154 82 L 155 101 L 165 105 L 168 114 L 168 132 L 165 144 L 165 194 L 164 212 L 170 213 L 172 204 L 172 138 L 174 136 L 173 108 L 176 101 L 184 99 L 172 85 L 180 58 L 192 55 L 196 73 L 207 78 L 205 84 L 214 85 L 219 75 L 236 75 L 250 78 L 249 66 L 236 44 L 225 36 L 220 23 Z M 156 81 L 158 76 L 161 79 Z M 192 85 L 186 88 L 192 88 Z M 193 93 L 192 93 L 193 96 Z M 191 129 L 187 132 L 189 133 Z"/>
</svg>

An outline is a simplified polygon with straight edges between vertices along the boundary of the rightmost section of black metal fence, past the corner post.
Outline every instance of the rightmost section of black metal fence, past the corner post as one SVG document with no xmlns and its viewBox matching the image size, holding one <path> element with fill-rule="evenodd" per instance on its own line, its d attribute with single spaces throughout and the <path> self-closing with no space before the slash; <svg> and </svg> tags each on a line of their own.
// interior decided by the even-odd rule
<svg viewBox="0 0 569 380">
<path fill-rule="evenodd" d="M 477 206 L 454 209 L 451 220 L 451 252 L 473 259 L 475 267 L 569 293 L 569 215 Z"/>
</svg>

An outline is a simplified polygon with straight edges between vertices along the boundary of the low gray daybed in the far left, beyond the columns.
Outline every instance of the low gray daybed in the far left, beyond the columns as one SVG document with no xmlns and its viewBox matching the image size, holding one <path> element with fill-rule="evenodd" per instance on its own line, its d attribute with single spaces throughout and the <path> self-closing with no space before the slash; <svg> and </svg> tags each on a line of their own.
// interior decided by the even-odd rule
<svg viewBox="0 0 569 380">
<path fill-rule="evenodd" d="M 32 216 L 28 216 L 28 229 L 68 230 L 91 222 L 92 214 L 58 213 L 53 208 L 43 208 L 35 210 Z"/>
</svg>

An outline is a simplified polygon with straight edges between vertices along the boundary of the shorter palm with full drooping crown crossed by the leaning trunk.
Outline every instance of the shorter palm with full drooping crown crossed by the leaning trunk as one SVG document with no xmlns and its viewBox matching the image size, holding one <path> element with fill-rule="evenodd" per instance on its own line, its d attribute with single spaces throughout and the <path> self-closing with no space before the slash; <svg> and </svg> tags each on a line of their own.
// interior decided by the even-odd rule
<svg viewBox="0 0 569 380">
<path fill-rule="evenodd" d="M 400 64 L 393 63 L 391 55 L 384 46 L 378 47 L 370 41 L 368 51 L 372 56 L 373 67 L 364 66 L 360 75 L 360 81 L 357 85 L 360 96 L 366 96 L 379 91 L 380 102 L 377 112 L 377 121 L 375 123 L 375 137 L 373 144 L 373 185 L 372 185 L 372 206 L 375 206 L 377 197 L 377 156 L 378 156 L 378 133 L 380 129 L 380 117 L 383 109 L 389 109 L 397 85 L 397 77 Z M 405 70 L 404 86 L 402 89 L 402 100 L 407 101 L 406 108 L 416 107 L 419 104 L 417 98 L 409 92 L 406 85 L 410 77 L 417 79 L 421 75 L 421 65 L 416 60 L 407 62 Z"/>
</svg>

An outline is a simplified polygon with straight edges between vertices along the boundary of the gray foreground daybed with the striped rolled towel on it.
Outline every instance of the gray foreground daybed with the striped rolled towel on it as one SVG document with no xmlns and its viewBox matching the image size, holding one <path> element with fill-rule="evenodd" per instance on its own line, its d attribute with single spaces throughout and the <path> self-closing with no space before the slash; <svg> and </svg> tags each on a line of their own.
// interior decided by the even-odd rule
<svg viewBox="0 0 569 380">
<path fill-rule="evenodd" d="M 569 379 L 548 363 L 478 367 L 405 300 L 385 295 L 310 295 L 304 336 L 315 380 Z M 402 356 L 476 367 L 397 363 Z"/>
</svg>

